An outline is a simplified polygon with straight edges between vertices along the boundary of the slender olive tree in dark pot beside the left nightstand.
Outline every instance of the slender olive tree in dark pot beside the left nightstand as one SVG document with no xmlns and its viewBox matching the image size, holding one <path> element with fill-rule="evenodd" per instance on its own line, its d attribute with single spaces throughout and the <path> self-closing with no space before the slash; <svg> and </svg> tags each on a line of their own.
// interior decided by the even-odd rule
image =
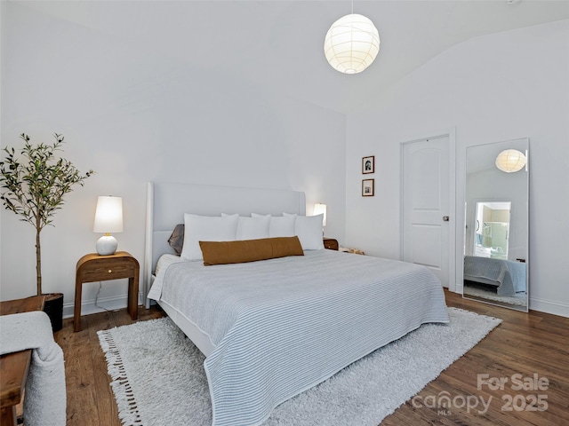
<svg viewBox="0 0 569 426">
<path fill-rule="evenodd" d="M 42 248 L 40 234 L 46 225 L 52 225 L 52 218 L 63 206 L 63 197 L 73 186 L 84 185 L 85 174 L 64 158 L 57 157 L 63 145 L 63 136 L 55 133 L 52 145 L 32 145 L 28 135 L 22 133 L 24 147 L 20 150 L 22 159 L 16 156 L 12 147 L 4 147 L 5 158 L 0 162 L 0 200 L 4 207 L 20 216 L 36 228 L 36 294 L 42 291 Z M 48 295 L 44 311 L 52 319 L 53 331 L 62 327 L 63 295 Z"/>
</svg>

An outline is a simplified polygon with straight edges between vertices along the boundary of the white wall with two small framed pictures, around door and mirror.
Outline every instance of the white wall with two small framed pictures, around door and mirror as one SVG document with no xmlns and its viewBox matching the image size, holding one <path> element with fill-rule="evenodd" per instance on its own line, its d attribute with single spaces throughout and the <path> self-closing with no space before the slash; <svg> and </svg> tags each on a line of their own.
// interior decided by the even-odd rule
<svg viewBox="0 0 569 426">
<path fill-rule="evenodd" d="M 456 205 L 463 206 L 466 147 L 529 137 L 530 308 L 569 316 L 568 76 L 569 21 L 562 20 L 454 46 L 349 114 L 347 244 L 399 257 L 401 142 L 456 130 Z M 361 157 L 371 154 L 376 193 L 362 198 Z M 452 214 L 461 259 L 464 209 Z"/>
</svg>

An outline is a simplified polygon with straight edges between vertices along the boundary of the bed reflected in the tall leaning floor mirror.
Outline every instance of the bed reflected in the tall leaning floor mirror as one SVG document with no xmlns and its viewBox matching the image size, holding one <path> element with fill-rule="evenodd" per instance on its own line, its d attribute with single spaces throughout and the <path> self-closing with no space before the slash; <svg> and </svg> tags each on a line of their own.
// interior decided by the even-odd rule
<svg viewBox="0 0 569 426">
<path fill-rule="evenodd" d="M 464 256 L 464 280 L 496 286 L 498 296 L 525 292 L 526 264 L 492 257 Z"/>
</svg>

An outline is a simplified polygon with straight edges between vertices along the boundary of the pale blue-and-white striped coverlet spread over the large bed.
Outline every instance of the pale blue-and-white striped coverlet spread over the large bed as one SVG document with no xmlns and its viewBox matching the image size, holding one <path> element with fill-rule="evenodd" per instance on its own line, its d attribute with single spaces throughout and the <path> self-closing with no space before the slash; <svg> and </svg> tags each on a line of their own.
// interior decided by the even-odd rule
<svg viewBox="0 0 569 426">
<path fill-rule="evenodd" d="M 448 322 L 429 269 L 314 250 L 248 264 L 173 262 L 149 295 L 215 345 L 204 361 L 214 425 L 254 425 L 275 406 L 428 322 Z"/>
</svg>

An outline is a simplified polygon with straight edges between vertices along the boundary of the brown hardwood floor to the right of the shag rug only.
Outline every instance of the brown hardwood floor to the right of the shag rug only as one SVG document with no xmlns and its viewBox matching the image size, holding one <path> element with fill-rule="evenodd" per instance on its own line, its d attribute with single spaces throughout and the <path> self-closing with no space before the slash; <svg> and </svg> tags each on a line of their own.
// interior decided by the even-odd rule
<svg viewBox="0 0 569 426">
<path fill-rule="evenodd" d="M 569 424 L 569 318 L 512 311 L 448 291 L 445 295 L 448 306 L 502 323 L 421 390 L 415 404 L 412 398 L 381 424 Z M 442 395 L 451 399 L 449 408 L 427 406 L 444 401 Z M 465 406 L 468 401 L 471 408 Z"/>
</svg>

